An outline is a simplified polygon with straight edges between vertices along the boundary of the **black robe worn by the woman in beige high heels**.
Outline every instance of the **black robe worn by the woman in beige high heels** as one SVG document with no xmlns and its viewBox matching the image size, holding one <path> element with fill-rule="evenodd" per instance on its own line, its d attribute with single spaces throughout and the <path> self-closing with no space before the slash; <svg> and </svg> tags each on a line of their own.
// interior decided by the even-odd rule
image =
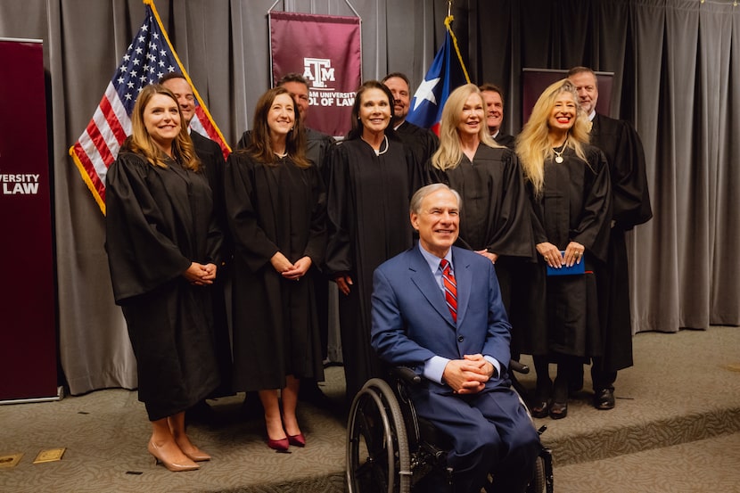
<svg viewBox="0 0 740 493">
<path fill-rule="evenodd" d="M 183 277 L 191 262 L 220 264 L 222 236 L 202 173 L 174 160 L 152 166 L 119 153 L 106 176 L 106 240 L 113 294 L 136 356 L 150 420 L 175 415 L 218 385 L 210 286 Z"/>
</svg>

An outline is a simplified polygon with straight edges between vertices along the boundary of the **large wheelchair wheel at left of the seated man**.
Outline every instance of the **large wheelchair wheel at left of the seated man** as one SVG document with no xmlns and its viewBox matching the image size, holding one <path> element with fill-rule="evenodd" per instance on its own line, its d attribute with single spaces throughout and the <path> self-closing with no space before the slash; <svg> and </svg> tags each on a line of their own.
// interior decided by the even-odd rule
<svg viewBox="0 0 740 493">
<path fill-rule="evenodd" d="M 347 424 L 349 493 L 408 493 L 411 487 L 406 426 L 391 387 L 366 382 L 352 401 Z"/>
</svg>

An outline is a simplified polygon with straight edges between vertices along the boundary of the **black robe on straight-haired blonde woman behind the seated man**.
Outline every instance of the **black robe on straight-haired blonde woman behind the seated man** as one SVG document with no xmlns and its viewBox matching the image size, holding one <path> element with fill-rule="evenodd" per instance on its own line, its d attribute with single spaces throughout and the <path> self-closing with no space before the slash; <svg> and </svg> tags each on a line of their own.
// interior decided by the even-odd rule
<svg viewBox="0 0 740 493">
<path fill-rule="evenodd" d="M 496 275 L 507 313 L 511 314 L 513 275 L 522 261 L 534 259 L 530 203 L 516 154 L 480 144 L 473 161 L 465 154 L 456 168 L 429 173 L 460 193 L 458 244 L 496 253 Z"/>
</svg>

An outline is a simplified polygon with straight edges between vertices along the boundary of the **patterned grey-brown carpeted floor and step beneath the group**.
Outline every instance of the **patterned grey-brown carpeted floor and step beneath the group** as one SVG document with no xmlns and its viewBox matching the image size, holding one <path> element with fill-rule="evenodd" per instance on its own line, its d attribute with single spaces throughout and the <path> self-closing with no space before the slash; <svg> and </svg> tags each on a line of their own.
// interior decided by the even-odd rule
<svg viewBox="0 0 740 493">
<path fill-rule="evenodd" d="M 635 366 L 620 374 L 615 409 L 590 407 L 587 371 L 567 418 L 536 420 L 548 427 L 555 491 L 740 491 L 740 328 L 640 333 L 634 342 Z M 532 387 L 534 377 L 521 381 Z M 150 427 L 136 392 L 0 406 L 0 491 L 341 492 L 341 368 L 327 369 L 324 390 L 333 406 L 301 405 L 308 446 L 291 454 L 267 448 L 264 423 L 245 416 L 243 394 L 211 401 L 217 422 L 193 424 L 190 435 L 213 460 L 177 474 L 147 454 Z M 48 448 L 66 452 L 32 464 Z M 22 454 L 20 463 L 2 467 L 12 454 Z"/>
</svg>

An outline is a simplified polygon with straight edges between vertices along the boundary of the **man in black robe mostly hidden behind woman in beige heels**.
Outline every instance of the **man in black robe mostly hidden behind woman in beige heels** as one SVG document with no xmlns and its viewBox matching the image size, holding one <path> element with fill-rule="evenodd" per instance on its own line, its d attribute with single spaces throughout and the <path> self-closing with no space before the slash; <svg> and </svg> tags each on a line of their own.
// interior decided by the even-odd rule
<svg viewBox="0 0 740 493">
<path fill-rule="evenodd" d="M 198 159 L 201 160 L 203 172 L 208 178 L 210 189 L 213 193 L 213 213 L 216 223 L 224 234 L 224 242 L 220 252 L 222 262 L 218 266 L 218 277 L 216 282 L 213 283 L 211 290 L 216 357 L 221 384 L 209 397 L 218 398 L 234 393 L 231 388 L 231 338 L 226 319 L 225 292 L 228 268 L 234 251 L 231 236 L 228 234 L 226 208 L 224 205 L 223 174 L 226 161 L 224 160 L 224 153 L 217 143 L 190 129 L 190 122 L 195 115 L 195 96 L 193 94 L 193 88 L 188 84 L 185 77 L 182 74 L 169 73 L 160 78 L 160 84 L 167 87 L 177 97 L 177 103 L 180 105 L 180 111 L 183 113 L 185 124 L 188 126 L 188 131 L 190 132 L 190 138 L 193 140 L 195 153 Z M 213 416 L 208 404 L 202 401 L 198 406 L 189 409 L 186 417 L 189 420 L 209 421 Z"/>
</svg>

